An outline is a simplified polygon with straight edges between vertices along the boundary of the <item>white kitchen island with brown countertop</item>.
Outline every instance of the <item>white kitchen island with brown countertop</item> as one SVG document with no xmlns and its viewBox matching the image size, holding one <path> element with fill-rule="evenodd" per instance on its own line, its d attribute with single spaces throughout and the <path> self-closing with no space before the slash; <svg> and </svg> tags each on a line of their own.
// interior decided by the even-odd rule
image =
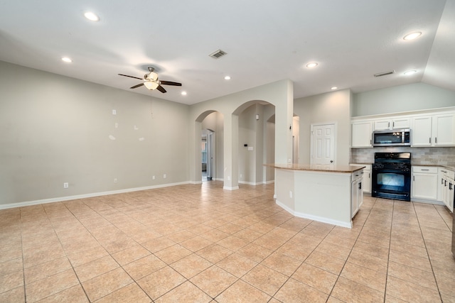
<svg viewBox="0 0 455 303">
<path fill-rule="evenodd" d="M 363 166 L 280 165 L 275 168 L 276 203 L 294 216 L 352 228 L 363 202 Z"/>
</svg>

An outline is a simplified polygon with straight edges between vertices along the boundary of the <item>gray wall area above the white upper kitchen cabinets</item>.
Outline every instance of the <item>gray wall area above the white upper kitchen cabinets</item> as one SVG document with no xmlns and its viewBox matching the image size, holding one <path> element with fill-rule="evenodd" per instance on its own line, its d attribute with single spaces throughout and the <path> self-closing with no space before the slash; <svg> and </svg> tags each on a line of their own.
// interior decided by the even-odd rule
<svg viewBox="0 0 455 303">
<path fill-rule="evenodd" d="M 413 83 L 353 96 L 352 116 L 392 114 L 402 111 L 455 106 L 455 92 L 424 83 Z"/>
</svg>

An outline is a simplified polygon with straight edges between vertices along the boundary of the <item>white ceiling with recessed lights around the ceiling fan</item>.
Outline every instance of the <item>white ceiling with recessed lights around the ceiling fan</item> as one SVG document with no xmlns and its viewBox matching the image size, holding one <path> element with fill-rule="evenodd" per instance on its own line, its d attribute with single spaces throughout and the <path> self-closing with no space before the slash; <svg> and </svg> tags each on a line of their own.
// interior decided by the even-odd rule
<svg viewBox="0 0 455 303">
<path fill-rule="evenodd" d="M 0 12 L 0 60 L 126 90 L 140 80 L 117 74 L 153 66 L 183 86 L 134 92 L 183 104 L 280 79 L 294 98 L 413 82 L 455 91 L 455 0 L 0 0 Z M 208 56 L 218 49 L 228 55 Z"/>
</svg>

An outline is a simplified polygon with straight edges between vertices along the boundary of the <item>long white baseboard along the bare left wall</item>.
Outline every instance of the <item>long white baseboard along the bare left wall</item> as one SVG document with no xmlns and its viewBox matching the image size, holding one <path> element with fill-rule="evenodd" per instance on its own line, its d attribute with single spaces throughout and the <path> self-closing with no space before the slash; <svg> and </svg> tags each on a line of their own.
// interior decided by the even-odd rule
<svg viewBox="0 0 455 303">
<path fill-rule="evenodd" d="M 134 188 L 127 188 L 127 189 L 111 190 L 109 192 L 93 192 L 91 194 L 76 194 L 74 196 L 57 197 L 57 198 L 49 198 L 49 199 L 41 199 L 41 200 L 17 202 L 17 203 L 9 203 L 9 204 L 0 204 L 0 209 L 12 209 L 15 207 L 23 207 L 23 206 L 45 204 L 45 203 L 63 202 L 63 201 L 75 200 L 75 199 L 99 197 L 99 196 L 106 196 L 107 194 L 123 194 L 124 192 L 139 192 L 140 190 L 156 189 L 156 188 L 161 188 L 161 187 L 171 187 L 171 186 L 183 185 L 183 184 L 191 184 L 191 182 L 186 181 L 186 182 L 168 183 L 168 184 L 152 185 L 152 186 L 146 186 L 146 187 L 134 187 Z"/>
</svg>

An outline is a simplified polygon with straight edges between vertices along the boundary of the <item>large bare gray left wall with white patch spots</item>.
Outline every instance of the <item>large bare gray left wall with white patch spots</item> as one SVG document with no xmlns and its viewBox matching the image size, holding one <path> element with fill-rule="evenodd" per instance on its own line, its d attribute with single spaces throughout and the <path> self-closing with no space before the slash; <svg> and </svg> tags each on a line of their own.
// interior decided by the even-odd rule
<svg viewBox="0 0 455 303">
<path fill-rule="evenodd" d="M 0 204 L 189 180 L 186 105 L 6 62 L 0 92 Z"/>
</svg>

